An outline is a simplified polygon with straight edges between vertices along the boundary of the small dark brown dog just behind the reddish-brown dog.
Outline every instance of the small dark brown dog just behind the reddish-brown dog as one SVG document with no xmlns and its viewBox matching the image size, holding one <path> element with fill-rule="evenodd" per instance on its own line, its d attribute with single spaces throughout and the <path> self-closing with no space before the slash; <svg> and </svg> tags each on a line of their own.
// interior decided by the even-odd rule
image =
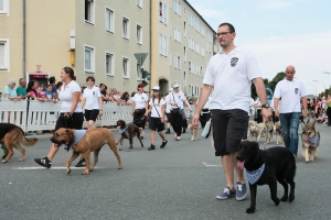
<svg viewBox="0 0 331 220">
<path fill-rule="evenodd" d="M 120 138 L 116 145 L 120 144 L 119 151 L 122 150 L 122 141 L 125 139 L 128 139 L 130 142 L 130 147 L 134 148 L 134 138 L 137 136 L 137 139 L 140 141 L 141 147 L 143 147 L 142 141 L 141 141 L 141 135 L 143 134 L 143 130 L 135 124 L 129 124 L 127 125 L 124 120 L 118 120 L 116 122 L 117 129 L 119 130 Z"/>
</svg>

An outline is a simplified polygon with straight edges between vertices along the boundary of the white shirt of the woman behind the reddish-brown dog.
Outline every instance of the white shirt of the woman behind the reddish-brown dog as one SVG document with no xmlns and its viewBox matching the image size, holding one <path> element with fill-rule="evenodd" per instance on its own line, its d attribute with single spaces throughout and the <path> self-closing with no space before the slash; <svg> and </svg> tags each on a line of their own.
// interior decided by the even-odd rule
<svg viewBox="0 0 331 220">
<path fill-rule="evenodd" d="M 68 112 L 71 110 L 73 103 L 73 94 L 75 91 L 79 91 L 81 94 L 81 86 L 72 80 L 68 85 L 62 85 L 58 99 L 62 101 L 61 105 L 61 112 Z M 83 112 L 81 105 L 77 105 L 75 112 Z"/>
</svg>

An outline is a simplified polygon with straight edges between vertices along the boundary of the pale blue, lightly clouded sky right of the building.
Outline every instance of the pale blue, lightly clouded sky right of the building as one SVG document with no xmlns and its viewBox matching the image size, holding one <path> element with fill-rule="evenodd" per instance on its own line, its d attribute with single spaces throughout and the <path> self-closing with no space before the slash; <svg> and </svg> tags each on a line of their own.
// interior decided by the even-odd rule
<svg viewBox="0 0 331 220">
<path fill-rule="evenodd" d="M 308 94 L 331 86 L 330 0 L 188 1 L 215 32 L 223 22 L 234 25 L 235 45 L 255 54 L 263 78 L 293 65 Z"/>
</svg>

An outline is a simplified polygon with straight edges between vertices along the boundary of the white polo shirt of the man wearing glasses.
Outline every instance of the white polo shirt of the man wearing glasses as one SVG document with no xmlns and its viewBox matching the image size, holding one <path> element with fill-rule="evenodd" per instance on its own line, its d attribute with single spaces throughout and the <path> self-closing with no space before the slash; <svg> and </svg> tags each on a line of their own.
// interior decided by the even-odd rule
<svg viewBox="0 0 331 220">
<path fill-rule="evenodd" d="M 242 109 L 249 112 L 252 80 L 261 77 L 250 51 L 236 47 L 229 54 L 215 54 L 203 84 L 214 87 L 210 109 Z"/>
</svg>

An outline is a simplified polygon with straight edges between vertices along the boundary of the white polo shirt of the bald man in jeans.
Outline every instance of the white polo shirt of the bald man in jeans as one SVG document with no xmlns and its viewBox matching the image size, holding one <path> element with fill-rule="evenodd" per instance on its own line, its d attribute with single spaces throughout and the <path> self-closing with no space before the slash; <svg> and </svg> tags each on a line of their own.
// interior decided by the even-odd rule
<svg viewBox="0 0 331 220">
<path fill-rule="evenodd" d="M 291 81 L 286 78 L 278 81 L 274 92 L 274 98 L 281 98 L 281 102 L 278 105 L 279 113 L 301 112 L 300 100 L 306 96 L 306 87 L 297 78 Z"/>
</svg>

